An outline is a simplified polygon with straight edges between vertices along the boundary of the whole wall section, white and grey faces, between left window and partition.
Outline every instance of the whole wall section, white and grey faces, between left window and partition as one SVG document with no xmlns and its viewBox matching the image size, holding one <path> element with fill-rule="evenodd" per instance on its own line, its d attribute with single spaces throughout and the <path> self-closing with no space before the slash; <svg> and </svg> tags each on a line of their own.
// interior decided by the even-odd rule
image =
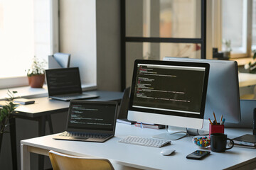
<svg viewBox="0 0 256 170">
<path fill-rule="evenodd" d="M 60 0 L 60 52 L 71 54 L 83 82 L 119 91 L 119 0 Z M 88 81 L 90 80 L 90 81 Z"/>
</svg>

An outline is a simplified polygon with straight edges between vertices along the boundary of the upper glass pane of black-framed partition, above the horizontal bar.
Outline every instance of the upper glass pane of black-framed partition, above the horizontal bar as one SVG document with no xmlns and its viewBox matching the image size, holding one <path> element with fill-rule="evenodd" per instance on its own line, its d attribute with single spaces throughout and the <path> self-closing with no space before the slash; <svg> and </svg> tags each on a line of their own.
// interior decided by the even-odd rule
<svg viewBox="0 0 256 170">
<path fill-rule="evenodd" d="M 126 1 L 126 36 L 201 38 L 200 0 Z"/>
</svg>

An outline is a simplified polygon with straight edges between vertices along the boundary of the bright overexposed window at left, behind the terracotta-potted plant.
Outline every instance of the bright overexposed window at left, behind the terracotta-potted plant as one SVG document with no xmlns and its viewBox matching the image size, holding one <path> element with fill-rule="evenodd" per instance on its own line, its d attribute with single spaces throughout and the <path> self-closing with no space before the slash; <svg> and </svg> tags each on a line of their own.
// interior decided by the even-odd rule
<svg viewBox="0 0 256 170">
<path fill-rule="evenodd" d="M 0 0 L 1 85 L 7 78 L 26 77 L 25 70 L 31 66 L 33 56 L 47 61 L 53 47 L 58 47 L 52 24 L 57 3 L 56 0 Z M 28 83 L 13 82 L 11 86 L 21 84 Z"/>
</svg>

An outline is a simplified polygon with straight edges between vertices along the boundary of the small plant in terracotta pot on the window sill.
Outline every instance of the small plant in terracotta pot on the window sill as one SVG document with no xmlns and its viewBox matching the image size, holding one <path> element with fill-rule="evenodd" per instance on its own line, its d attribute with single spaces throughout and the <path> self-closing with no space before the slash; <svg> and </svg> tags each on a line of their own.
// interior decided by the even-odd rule
<svg viewBox="0 0 256 170">
<path fill-rule="evenodd" d="M 35 56 L 33 57 L 33 62 L 31 69 L 28 69 L 28 84 L 32 88 L 42 88 L 45 81 L 45 69 L 46 61 L 39 61 Z"/>
</svg>

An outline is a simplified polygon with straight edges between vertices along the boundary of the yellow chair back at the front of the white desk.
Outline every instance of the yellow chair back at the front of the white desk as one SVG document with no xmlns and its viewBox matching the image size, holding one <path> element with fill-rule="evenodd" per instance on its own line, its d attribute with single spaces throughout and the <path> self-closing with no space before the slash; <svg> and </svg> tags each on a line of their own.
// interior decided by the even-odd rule
<svg viewBox="0 0 256 170">
<path fill-rule="evenodd" d="M 113 170 L 113 166 L 107 159 L 74 157 L 50 150 L 50 162 L 53 170 L 80 170 L 80 169 L 102 169 Z"/>
</svg>

